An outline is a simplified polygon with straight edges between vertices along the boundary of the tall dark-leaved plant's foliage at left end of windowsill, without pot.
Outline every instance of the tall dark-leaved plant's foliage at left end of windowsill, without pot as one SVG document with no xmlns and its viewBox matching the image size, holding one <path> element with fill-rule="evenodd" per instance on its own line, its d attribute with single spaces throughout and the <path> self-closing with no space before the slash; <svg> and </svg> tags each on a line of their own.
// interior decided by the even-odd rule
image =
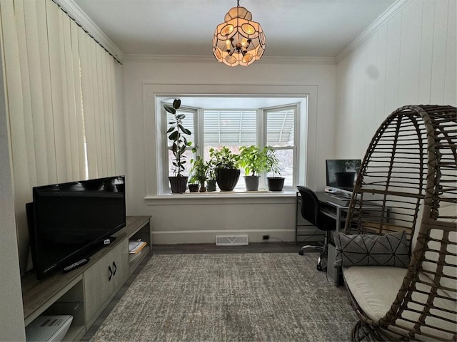
<svg viewBox="0 0 457 342">
<path fill-rule="evenodd" d="M 173 152 L 174 161 L 172 164 L 174 175 L 177 177 L 181 177 L 181 172 L 185 170 L 186 156 L 184 153 L 186 152 L 186 147 L 191 146 L 191 142 L 188 142 L 186 139 L 186 135 L 191 135 L 191 131 L 183 126 L 183 120 L 186 118 L 186 115 L 183 113 L 176 114 L 176 110 L 180 107 L 181 100 L 179 99 L 175 99 L 173 105 L 164 103 L 164 109 L 174 117 L 174 120 L 169 122 L 171 126 L 166 133 L 169 134 L 169 140 L 173 141 L 171 152 Z"/>
</svg>

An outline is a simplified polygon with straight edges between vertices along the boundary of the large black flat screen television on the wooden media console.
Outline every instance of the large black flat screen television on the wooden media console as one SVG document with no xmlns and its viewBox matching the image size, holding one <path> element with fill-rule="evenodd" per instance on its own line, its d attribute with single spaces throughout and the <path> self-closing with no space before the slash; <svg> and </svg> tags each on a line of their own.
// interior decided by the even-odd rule
<svg viewBox="0 0 457 342">
<path fill-rule="evenodd" d="M 27 204 L 38 279 L 89 257 L 126 226 L 125 177 L 104 177 L 33 188 Z"/>
</svg>

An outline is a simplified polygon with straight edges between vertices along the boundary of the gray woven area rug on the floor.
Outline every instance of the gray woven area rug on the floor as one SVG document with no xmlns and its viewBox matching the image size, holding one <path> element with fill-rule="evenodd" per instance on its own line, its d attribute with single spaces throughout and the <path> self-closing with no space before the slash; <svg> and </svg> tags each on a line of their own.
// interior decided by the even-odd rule
<svg viewBox="0 0 457 342">
<path fill-rule="evenodd" d="M 91 341 L 349 341 L 316 254 L 154 255 Z"/>
</svg>

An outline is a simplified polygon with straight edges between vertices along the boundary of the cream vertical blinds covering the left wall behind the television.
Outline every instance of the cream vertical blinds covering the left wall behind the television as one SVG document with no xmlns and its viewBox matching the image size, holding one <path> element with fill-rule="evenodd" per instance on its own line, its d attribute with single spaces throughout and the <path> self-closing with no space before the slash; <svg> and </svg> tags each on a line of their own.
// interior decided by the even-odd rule
<svg viewBox="0 0 457 342">
<path fill-rule="evenodd" d="M 116 174 L 114 59 L 51 0 L 0 1 L 21 269 L 31 188 Z"/>
</svg>

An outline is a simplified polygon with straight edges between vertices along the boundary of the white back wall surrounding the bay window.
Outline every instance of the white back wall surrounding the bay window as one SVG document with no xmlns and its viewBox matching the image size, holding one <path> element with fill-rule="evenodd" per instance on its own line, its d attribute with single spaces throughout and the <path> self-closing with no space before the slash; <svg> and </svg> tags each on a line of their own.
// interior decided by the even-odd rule
<svg viewBox="0 0 457 342">
<path fill-rule="evenodd" d="M 292 241 L 294 195 L 273 199 L 145 200 L 149 184 L 156 177 L 156 168 L 150 166 L 154 164 L 156 150 L 154 125 L 148 116 L 154 115 L 151 85 L 159 88 L 176 85 L 177 90 L 192 89 L 189 85 L 209 88 L 251 85 L 253 93 L 257 93 L 256 87 L 269 86 L 273 93 L 279 94 L 303 86 L 313 87 L 316 89 L 312 99 L 316 117 L 311 120 L 314 120 L 316 131 L 312 133 L 315 138 L 308 142 L 306 151 L 310 160 L 306 182 L 308 186 L 322 190 L 325 159 L 333 157 L 333 135 L 328 132 L 333 132 L 334 128 L 336 65 L 258 61 L 248 68 L 229 68 L 212 59 L 186 63 L 138 56 L 126 56 L 124 63 L 127 213 L 151 215 L 154 243 L 214 242 L 216 234 L 229 233 L 246 233 L 250 241 L 259 241 L 262 234 Z"/>
</svg>

